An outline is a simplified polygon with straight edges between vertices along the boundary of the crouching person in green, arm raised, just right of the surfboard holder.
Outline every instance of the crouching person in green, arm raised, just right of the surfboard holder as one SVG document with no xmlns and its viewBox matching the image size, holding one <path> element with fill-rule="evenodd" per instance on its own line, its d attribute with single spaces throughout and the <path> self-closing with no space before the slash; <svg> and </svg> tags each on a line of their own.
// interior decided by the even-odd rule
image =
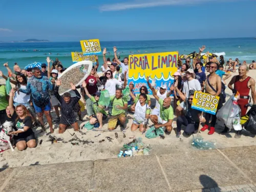
<svg viewBox="0 0 256 192">
<path fill-rule="evenodd" d="M 92 107 L 94 111 L 94 115 L 90 118 L 90 124 L 95 124 L 99 122 L 99 128 L 102 129 L 103 127 L 103 120 L 108 118 L 108 114 L 104 110 L 104 106 L 99 105 L 99 98 L 100 98 L 100 92 L 95 92 L 92 96 L 90 92 L 87 90 L 87 83 L 86 81 L 83 81 L 82 87 L 84 88 L 84 91 L 86 92 L 86 95 L 89 99 L 92 101 Z"/>
</svg>

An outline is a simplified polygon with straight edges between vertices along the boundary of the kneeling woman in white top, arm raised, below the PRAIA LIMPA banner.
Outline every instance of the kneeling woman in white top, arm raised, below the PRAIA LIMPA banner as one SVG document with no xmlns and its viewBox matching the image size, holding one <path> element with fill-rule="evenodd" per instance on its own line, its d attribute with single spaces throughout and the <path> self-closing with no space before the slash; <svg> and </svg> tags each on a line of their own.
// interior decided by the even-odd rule
<svg viewBox="0 0 256 192">
<path fill-rule="evenodd" d="M 146 103 L 147 95 L 145 93 L 141 93 L 139 98 L 136 98 L 131 92 L 131 97 L 135 101 L 135 112 L 131 131 L 134 132 L 139 127 L 139 131 L 144 132 L 146 131 L 147 120 L 150 118 L 150 106 Z"/>
</svg>

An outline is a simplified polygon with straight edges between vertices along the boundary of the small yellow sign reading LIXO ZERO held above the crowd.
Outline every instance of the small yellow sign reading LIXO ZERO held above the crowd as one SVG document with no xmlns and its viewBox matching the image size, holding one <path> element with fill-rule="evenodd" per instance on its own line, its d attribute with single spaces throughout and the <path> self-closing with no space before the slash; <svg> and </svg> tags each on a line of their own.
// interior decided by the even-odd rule
<svg viewBox="0 0 256 192">
<path fill-rule="evenodd" d="M 99 39 L 80 40 L 83 55 L 97 55 L 101 53 Z"/>
</svg>

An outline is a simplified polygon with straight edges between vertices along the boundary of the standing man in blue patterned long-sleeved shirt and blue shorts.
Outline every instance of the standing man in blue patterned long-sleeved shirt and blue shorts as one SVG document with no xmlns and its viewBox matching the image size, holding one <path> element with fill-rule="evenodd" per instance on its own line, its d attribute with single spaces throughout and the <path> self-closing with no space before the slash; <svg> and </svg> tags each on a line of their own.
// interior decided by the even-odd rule
<svg viewBox="0 0 256 192">
<path fill-rule="evenodd" d="M 49 81 L 48 77 L 41 76 L 41 72 L 39 68 L 33 68 L 32 70 L 33 76 L 28 79 L 27 89 L 18 89 L 23 93 L 30 94 L 32 96 L 33 106 L 35 108 L 35 112 L 37 113 L 38 121 L 41 124 L 42 130 L 45 130 L 44 120 L 42 118 L 45 113 L 47 121 L 50 126 L 50 131 L 53 133 L 52 129 L 52 116 L 50 114 L 51 111 L 51 102 L 49 91 L 53 91 L 55 84 L 55 80 L 52 79 L 52 83 Z"/>
</svg>

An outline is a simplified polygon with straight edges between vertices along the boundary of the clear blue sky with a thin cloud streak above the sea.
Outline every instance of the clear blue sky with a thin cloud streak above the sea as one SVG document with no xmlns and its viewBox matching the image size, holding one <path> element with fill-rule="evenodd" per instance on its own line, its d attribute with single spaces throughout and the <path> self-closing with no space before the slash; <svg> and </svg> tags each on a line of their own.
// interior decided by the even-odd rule
<svg viewBox="0 0 256 192">
<path fill-rule="evenodd" d="M 0 1 L 0 41 L 256 37 L 255 0 Z"/>
</svg>

